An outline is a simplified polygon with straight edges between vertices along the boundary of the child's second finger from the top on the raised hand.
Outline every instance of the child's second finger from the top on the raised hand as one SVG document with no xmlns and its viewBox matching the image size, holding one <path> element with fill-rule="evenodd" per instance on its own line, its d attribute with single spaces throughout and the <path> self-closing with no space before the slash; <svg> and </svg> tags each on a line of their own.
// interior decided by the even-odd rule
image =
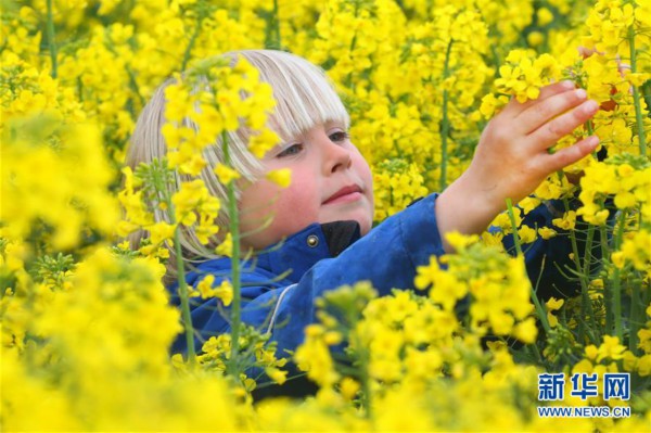
<svg viewBox="0 0 651 433">
<path fill-rule="evenodd" d="M 518 129 L 523 133 L 532 133 L 550 119 L 577 106 L 586 99 L 587 93 L 584 89 L 564 91 L 547 98 L 545 101 L 529 106 L 516 116 Z"/>
</svg>

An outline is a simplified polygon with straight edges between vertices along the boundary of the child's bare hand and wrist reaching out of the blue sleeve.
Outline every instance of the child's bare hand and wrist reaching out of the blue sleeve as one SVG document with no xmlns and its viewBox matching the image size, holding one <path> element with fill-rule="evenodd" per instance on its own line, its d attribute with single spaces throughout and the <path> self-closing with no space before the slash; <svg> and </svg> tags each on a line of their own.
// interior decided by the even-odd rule
<svg viewBox="0 0 651 433">
<path fill-rule="evenodd" d="M 548 149 L 598 110 L 599 104 L 571 81 L 542 88 L 535 101 L 511 100 L 484 129 L 470 167 L 437 199 L 445 251 L 452 250 L 445 233 L 482 233 L 506 209 L 507 199 L 518 203 L 548 175 L 592 152 L 599 144 L 595 136 L 553 154 Z"/>
</svg>

